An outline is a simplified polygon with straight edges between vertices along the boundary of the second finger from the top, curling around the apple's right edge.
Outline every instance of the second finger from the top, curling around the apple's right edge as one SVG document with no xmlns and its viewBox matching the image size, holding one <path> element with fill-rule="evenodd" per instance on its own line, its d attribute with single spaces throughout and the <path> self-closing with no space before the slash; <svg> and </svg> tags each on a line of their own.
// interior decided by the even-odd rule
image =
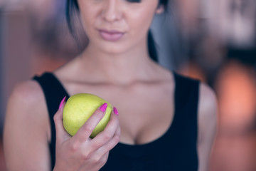
<svg viewBox="0 0 256 171">
<path fill-rule="evenodd" d="M 91 140 L 92 148 L 97 150 L 98 148 L 105 145 L 108 141 L 110 141 L 113 138 L 118 128 L 119 128 L 119 119 L 117 115 L 112 112 L 110 121 L 109 123 L 107 123 L 106 128 Z"/>
</svg>

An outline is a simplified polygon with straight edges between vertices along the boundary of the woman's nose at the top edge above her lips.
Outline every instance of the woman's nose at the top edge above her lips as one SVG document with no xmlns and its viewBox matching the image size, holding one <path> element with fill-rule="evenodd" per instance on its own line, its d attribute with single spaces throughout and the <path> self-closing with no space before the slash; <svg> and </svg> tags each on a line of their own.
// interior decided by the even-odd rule
<svg viewBox="0 0 256 171">
<path fill-rule="evenodd" d="M 113 22 L 121 19 L 121 11 L 118 6 L 118 0 L 106 0 L 102 17 L 106 21 Z"/>
</svg>

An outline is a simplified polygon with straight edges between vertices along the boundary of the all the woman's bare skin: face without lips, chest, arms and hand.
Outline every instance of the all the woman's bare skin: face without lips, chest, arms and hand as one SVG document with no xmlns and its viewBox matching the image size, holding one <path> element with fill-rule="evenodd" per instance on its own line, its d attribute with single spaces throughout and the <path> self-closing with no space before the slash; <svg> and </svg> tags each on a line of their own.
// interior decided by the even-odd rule
<svg viewBox="0 0 256 171">
<path fill-rule="evenodd" d="M 54 116 L 57 134 L 54 170 L 100 170 L 107 162 L 109 151 L 119 141 L 134 145 L 155 140 L 166 132 L 174 116 L 174 76 L 151 61 L 146 48 L 153 16 L 163 11 L 162 6 L 157 8 L 158 1 L 131 4 L 119 0 L 81 0 L 78 3 L 89 46 L 81 56 L 53 73 L 70 95 L 85 90 L 95 93 L 116 106 L 119 116 L 112 113 L 107 128 L 91 140 L 90 133 L 104 115 L 96 110 L 71 138 L 63 129 L 63 107 L 60 108 Z M 117 42 L 105 41 L 95 28 L 120 29 L 125 35 Z M 8 169 L 50 170 L 50 122 L 41 87 L 35 81 L 18 84 L 7 108 L 4 152 Z M 200 171 L 208 167 L 215 121 L 215 94 L 201 84 Z"/>
</svg>

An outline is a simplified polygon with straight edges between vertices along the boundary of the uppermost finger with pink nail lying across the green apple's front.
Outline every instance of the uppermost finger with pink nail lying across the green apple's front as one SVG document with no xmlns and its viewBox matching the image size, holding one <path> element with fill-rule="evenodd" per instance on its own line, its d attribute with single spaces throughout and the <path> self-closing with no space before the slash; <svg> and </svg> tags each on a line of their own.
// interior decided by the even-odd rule
<svg viewBox="0 0 256 171">
<path fill-rule="evenodd" d="M 78 133 L 74 135 L 75 140 L 80 140 L 80 142 L 85 142 L 90 135 L 92 134 L 92 131 L 95 129 L 98 123 L 100 123 L 100 120 L 105 115 L 107 108 L 107 103 L 104 103 L 100 108 L 95 110 L 95 112 L 90 116 L 90 118 L 85 122 L 84 125 L 78 130 Z"/>
</svg>

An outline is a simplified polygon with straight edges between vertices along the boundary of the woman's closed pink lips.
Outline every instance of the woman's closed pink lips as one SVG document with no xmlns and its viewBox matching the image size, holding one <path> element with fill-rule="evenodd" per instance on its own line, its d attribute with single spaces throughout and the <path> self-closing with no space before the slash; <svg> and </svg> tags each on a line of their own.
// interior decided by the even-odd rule
<svg viewBox="0 0 256 171">
<path fill-rule="evenodd" d="M 116 30 L 99 29 L 99 33 L 105 41 L 118 41 L 124 36 L 124 32 Z"/>
</svg>

